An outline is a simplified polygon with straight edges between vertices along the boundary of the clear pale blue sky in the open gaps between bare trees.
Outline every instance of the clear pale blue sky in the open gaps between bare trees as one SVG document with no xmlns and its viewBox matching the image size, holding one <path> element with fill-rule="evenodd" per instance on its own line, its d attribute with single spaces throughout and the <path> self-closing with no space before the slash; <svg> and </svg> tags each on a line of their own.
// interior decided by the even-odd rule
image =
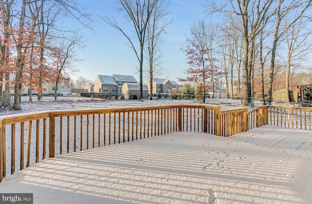
<svg viewBox="0 0 312 204">
<path fill-rule="evenodd" d="M 95 21 L 90 25 L 94 28 L 94 32 L 81 27 L 75 21 L 69 22 L 72 23 L 72 26 L 77 24 L 80 27 L 88 46 L 84 50 L 77 51 L 77 57 L 83 61 L 77 63 L 79 71 L 76 76 L 71 76 L 71 78 L 77 79 L 79 76 L 83 76 L 95 81 L 97 75 L 124 74 L 133 75 L 138 81 L 138 61 L 134 51 L 126 45 L 128 40 L 120 31 L 98 17 L 98 15 L 113 16 L 120 27 L 130 33 L 133 25 L 127 24 L 123 15 L 114 10 L 115 1 L 78 0 L 77 2 L 84 7 L 89 7 L 89 12 L 94 13 Z M 191 23 L 205 17 L 203 3 L 204 0 L 170 0 L 168 10 L 174 22 L 168 26 L 168 34 L 164 36 L 161 61 L 165 71 L 158 78 L 169 78 L 177 82 L 177 78 L 186 77 L 185 70 L 188 68 L 188 64 L 185 53 L 180 49 L 185 43 L 186 35 L 189 35 Z M 147 61 L 143 61 L 143 66 L 147 65 Z M 143 82 L 146 81 L 143 79 Z"/>
</svg>

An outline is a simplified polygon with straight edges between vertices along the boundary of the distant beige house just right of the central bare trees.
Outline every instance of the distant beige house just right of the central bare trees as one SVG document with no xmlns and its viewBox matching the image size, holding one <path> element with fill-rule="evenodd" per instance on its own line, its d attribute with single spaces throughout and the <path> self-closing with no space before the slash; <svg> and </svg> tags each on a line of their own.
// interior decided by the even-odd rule
<svg viewBox="0 0 312 204">
<path fill-rule="evenodd" d="M 151 93 L 150 90 L 150 80 L 146 83 L 146 85 L 148 86 L 148 92 L 149 94 Z M 166 80 L 166 79 L 159 79 L 159 78 L 155 78 L 153 79 L 153 88 L 152 88 L 152 94 L 155 93 L 169 93 L 171 92 L 172 89 L 176 89 L 176 87 L 178 87 L 178 83 L 175 81 L 170 81 L 170 80 Z"/>
</svg>

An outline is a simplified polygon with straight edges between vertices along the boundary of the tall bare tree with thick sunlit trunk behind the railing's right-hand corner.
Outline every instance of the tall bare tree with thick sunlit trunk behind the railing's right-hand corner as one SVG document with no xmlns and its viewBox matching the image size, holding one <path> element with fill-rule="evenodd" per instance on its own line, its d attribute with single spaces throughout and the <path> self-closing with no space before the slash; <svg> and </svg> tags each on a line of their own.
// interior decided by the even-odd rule
<svg viewBox="0 0 312 204">
<path fill-rule="evenodd" d="M 263 21 L 268 21 L 274 11 L 271 11 L 273 0 L 230 0 L 217 6 L 216 1 L 206 0 L 206 4 L 212 9 L 210 12 L 225 12 L 239 17 L 240 29 L 243 39 L 243 105 L 251 102 L 251 78 L 254 64 L 255 38 L 261 31 Z"/>
</svg>

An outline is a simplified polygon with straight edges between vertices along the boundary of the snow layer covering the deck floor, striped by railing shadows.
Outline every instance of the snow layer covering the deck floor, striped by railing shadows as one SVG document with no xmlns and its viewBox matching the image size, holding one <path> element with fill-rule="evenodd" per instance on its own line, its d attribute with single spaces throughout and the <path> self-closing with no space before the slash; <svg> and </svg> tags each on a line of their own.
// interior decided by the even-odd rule
<svg viewBox="0 0 312 204">
<path fill-rule="evenodd" d="M 58 156 L 8 176 L 0 192 L 34 193 L 35 204 L 312 203 L 311 156 L 281 151 L 296 142 L 283 134 L 309 141 L 311 132 L 274 128 L 179 132 Z"/>
</svg>

